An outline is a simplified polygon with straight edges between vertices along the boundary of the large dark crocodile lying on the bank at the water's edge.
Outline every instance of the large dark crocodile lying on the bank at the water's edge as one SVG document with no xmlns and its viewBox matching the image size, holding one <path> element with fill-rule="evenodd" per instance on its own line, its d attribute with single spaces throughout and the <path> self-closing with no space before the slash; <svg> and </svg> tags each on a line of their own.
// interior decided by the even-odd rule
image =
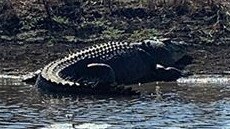
<svg viewBox="0 0 230 129">
<path fill-rule="evenodd" d="M 35 85 L 59 92 L 99 93 L 110 87 L 183 76 L 174 64 L 186 55 L 185 43 L 143 40 L 96 44 L 46 65 Z M 25 81 L 28 81 L 25 80 Z"/>
</svg>

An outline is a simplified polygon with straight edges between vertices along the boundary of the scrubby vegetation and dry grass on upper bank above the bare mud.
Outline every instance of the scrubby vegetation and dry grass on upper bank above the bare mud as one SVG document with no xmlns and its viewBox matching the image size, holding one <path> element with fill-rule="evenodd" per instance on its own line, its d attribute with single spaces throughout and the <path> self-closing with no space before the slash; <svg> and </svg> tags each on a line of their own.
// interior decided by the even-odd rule
<svg viewBox="0 0 230 129">
<path fill-rule="evenodd" d="M 229 9 L 229 0 L 1 0 L 0 43 L 229 43 Z"/>
</svg>

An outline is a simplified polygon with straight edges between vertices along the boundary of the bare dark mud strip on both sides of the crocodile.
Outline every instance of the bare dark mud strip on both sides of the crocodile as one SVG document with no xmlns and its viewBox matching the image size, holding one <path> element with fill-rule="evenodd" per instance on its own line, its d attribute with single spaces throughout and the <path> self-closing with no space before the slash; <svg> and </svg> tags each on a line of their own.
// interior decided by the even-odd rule
<svg viewBox="0 0 230 129">
<path fill-rule="evenodd" d="M 0 47 L 0 71 L 7 74 L 33 72 L 85 46 L 85 44 L 64 43 L 4 44 Z M 230 44 L 189 46 L 188 55 L 193 60 L 185 70 L 195 74 L 229 74 L 229 47 Z"/>
</svg>

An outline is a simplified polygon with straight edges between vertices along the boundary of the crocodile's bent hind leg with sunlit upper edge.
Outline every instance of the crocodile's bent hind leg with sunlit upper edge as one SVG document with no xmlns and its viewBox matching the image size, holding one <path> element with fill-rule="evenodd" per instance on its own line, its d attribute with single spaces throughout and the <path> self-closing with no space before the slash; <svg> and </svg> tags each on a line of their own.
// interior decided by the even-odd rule
<svg viewBox="0 0 230 129">
<path fill-rule="evenodd" d="M 86 80 L 88 84 L 93 84 L 92 87 L 98 84 L 110 85 L 115 83 L 115 73 L 107 64 L 91 63 L 87 65 L 83 80 Z"/>
</svg>

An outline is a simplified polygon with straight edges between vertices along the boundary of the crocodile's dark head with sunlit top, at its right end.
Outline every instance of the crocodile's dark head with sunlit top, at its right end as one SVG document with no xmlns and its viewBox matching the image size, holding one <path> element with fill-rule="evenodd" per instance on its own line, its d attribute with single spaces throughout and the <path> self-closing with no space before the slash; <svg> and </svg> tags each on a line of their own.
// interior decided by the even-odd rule
<svg viewBox="0 0 230 129">
<path fill-rule="evenodd" d="M 184 42 L 144 40 L 147 51 L 155 57 L 156 63 L 172 66 L 186 55 Z"/>
</svg>

